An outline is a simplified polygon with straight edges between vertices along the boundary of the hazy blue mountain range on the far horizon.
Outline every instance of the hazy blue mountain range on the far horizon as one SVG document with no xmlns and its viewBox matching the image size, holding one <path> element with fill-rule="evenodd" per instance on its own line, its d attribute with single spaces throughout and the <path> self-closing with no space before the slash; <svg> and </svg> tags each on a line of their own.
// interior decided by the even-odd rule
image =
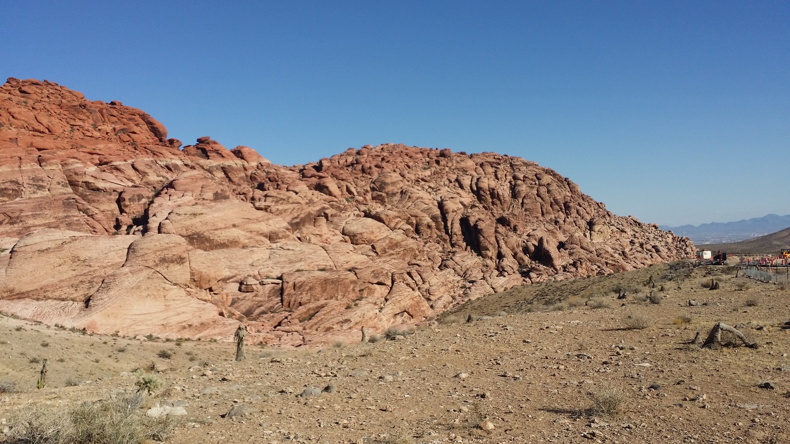
<svg viewBox="0 0 790 444">
<path fill-rule="evenodd" d="M 681 225 L 679 227 L 659 226 L 679 236 L 687 236 L 695 244 L 731 243 L 768 235 L 790 227 L 790 214 L 779 216 L 769 214 L 735 222 L 711 222 L 702 225 Z"/>
</svg>

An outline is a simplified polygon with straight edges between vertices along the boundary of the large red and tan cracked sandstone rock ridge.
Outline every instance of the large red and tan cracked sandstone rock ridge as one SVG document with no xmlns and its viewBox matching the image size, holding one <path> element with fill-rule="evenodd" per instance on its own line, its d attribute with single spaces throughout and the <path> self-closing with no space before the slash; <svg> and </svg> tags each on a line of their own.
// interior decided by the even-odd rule
<svg viewBox="0 0 790 444">
<path fill-rule="evenodd" d="M 0 310 L 100 333 L 320 344 L 542 280 L 694 254 L 570 179 L 369 145 L 273 165 L 119 102 L 0 87 Z"/>
</svg>

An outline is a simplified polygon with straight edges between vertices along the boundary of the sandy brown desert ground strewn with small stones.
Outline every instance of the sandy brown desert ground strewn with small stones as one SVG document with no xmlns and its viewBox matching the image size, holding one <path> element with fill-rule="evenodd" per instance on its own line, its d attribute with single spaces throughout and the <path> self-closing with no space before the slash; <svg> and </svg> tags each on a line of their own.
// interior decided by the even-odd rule
<svg viewBox="0 0 790 444">
<path fill-rule="evenodd" d="M 186 414 L 149 442 L 790 442 L 790 290 L 692 265 L 514 288 L 368 343 L 246 344 L 243 362 L 229 342 L 2 316 L 0 426 L 12 442 L 36 408 L 66 415 L 153 374 L 133 415 Z M 689 344 L 717 322 L 759 347 Z"/>
</svg>

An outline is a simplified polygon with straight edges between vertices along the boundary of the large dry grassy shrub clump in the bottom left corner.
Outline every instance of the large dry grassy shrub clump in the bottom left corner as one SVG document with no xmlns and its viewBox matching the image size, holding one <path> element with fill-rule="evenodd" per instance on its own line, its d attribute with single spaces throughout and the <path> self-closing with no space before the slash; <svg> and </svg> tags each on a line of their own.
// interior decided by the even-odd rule
<svg viewBox="0 0 790 444">
<path fill-rule="evenodd" d="M 167 438 L 175 420 L 140 415 L 142 397 L 85 402 L 60 412 L 33 407 L 10 423 L 7 444 L 137 444 Z"/>
</svg>

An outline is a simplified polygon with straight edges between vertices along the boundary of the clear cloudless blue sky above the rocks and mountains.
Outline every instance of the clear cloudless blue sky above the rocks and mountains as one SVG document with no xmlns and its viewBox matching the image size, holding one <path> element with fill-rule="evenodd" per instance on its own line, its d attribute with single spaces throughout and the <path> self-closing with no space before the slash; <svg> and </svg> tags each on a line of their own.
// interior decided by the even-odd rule
<svg viewBox="0 0 790 444">
<path fill-rule="evenodd" d="M 276 164 L 522 156 L 611 211 L 790 213 L 790 2 L 2 2 L 0 76 Z"/>
</svg>

